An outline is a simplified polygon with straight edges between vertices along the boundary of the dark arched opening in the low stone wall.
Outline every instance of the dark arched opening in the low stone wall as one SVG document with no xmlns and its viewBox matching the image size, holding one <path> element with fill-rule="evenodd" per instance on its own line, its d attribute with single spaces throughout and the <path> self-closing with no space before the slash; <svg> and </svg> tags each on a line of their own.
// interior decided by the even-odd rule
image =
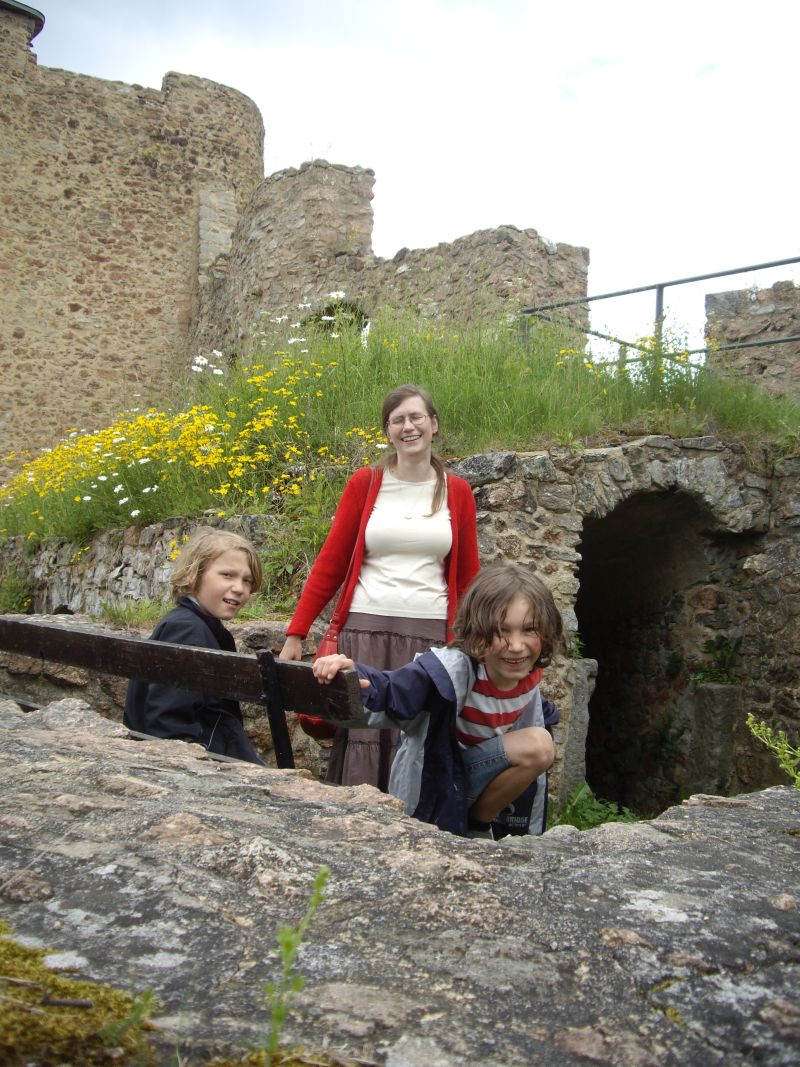
<svg viewBox="0 0 800 1067">
<path fill-rule="evenodd" d="M 720 534 L 704 501 L 674 489 L 585 519 L 576 615 L 598 665 L 586 746 L 597 795 L 655 814 L 729 791 L 740 688 L 718 683 L 735 676 L 737 559 L 756 539 Z"/>
</svg>

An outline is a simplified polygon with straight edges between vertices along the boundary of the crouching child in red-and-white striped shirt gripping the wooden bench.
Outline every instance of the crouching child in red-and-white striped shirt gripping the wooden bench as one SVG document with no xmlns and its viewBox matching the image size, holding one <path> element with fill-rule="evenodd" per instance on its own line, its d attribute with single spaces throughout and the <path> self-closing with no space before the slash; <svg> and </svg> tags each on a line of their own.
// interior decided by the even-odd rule
<svg viewBox="0 0 800 1067">
<path fill-rule="evenodd" d="M 394 671 L 324 656 L 329 682 L 355 667 L 370 724 L 403 731 L 389 793 L 405 810 L 442 829 L 492 837 L 491 825 L 540 780 L 544 792 L 553 739 L 544 728 L 539 681 L 564 642 L 549 589 L 526 568 L 480 571 L 453 623 L 453 641 Z M 526 823 L 522 830 L 541 832 Z"/>
</svg>

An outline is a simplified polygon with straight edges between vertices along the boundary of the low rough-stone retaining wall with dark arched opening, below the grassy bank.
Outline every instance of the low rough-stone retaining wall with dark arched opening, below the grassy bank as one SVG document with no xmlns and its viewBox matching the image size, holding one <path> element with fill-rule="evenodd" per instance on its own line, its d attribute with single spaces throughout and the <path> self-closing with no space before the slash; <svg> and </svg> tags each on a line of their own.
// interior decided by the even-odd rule
<svg viewBox="0 0 800 1067">
<path fill-rule="evenodd" d="M 543 683 L 560 714 L 559 802 L 587 763 L 598 792 L 644 811 L 683 792 L 733 795 L 784 780 L 745 721 L 752 712 L 798 736 L 800 457 L 768 459 L 758 473 L 743 449 L 714 439 L 650 436 L 451 466 L 475 490 L 483 562 L 530 566 L 582 638 L 587 658 L 559 656 Z M 256 516 L 243 521 L 257 544 L 269 537 Z M 154 566 L 154 544 L 178 522 L 105 534 L 89 554 L 53 542 L 30 555 L 18 539 L 3 560 L 30 575 L 37 611 L 159 599 L 169 572 Z M 713 665 L 704 643 L 730 650 L 738 638 L 740 684 L 693 687 L 697 669 Z M 601 678 L 587 744 L 592 656 Z"/>
</svg>

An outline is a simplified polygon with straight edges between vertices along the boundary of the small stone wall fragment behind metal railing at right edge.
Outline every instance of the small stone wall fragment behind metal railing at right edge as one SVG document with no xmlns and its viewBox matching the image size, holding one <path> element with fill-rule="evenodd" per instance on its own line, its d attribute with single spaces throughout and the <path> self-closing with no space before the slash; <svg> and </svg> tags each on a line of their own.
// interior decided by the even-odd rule
<svg viewBox="0 0 800 1067">
<path fill-rule="evenodd" d="M 705 298 L 706 332 L 720 345 L 800 335 L 800 288 L 739 289 Z M 709 352 L 709 366 L 758 382 L 770 393 L 800 397 L 800 341 Z"/>
</svg>

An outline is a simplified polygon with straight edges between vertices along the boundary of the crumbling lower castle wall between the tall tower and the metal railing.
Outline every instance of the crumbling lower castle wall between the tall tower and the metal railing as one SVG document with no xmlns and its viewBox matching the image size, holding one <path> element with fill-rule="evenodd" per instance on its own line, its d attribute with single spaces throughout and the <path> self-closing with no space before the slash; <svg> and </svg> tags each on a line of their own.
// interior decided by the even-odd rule
<svg viewBox="0 0 800 1067">
<path fill-rule="evenodd" d="M 380 307 L 426 318 L 486 320 L 585 297 L 589 253 L 534 229 L 502 226 L 432 249 L 372 253 L 374 174 L 325 160 L 267 178 L 239 220 L 229 253 L 205 272 L 193 345 L 247 350 L 261 319 L 299 316 L 345 292 L 367 317 Z M 585 308 L 577 321 L 588 324 Z M 302 317 L 302 315 L 300 315 Z"/>
</svg>

